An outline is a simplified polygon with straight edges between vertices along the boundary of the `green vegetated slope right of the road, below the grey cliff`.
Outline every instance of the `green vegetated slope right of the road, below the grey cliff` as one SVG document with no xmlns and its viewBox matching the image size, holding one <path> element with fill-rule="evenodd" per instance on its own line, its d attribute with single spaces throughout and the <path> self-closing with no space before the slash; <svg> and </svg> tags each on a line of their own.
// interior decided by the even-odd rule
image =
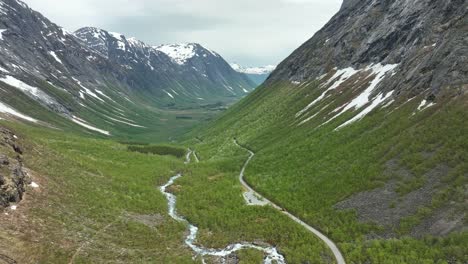
<svg viewBox="0 0 468 264">
<path fill-rule="evenodd" d="M 205 160 L 229 157 L 237 137 L 256 152 L 246 180 L 338 242 L 350 263 L 468 261 L 466 96 L 441 96 L 424 111 L 424 98 L 401 99 L 336 131 L 354 115 L 325 122 L 346 93 L 320 101 L 303 125 L 295 118 L 317 85 L 257 89 L 191 134 L 194 147 Z M 363 210 L 385 190 L 382 208 Z M 432 230 L 435 221 L 453 232 Z"/>
</svg>

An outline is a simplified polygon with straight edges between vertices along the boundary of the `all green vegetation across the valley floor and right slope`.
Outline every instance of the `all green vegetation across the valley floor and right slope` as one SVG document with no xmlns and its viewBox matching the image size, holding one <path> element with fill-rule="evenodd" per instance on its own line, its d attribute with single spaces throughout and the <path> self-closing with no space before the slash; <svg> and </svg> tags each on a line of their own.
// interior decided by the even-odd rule
<svg viewBox="0 0 468 264">
<path fill-rule="evenodd" d="M 55 115 L 45 114 L 45 121 L 63 122 L 65 131 L 0 121 L 20 136 L 26 165 L 41 186 L 40 192 L 28 195 L 31 202 L 20 203 L 19 214 L 28 222 L 0 231 L 7 241 L 0 243 L 0 253 L 25 263 L 66 263 L 74 255 L 76 263 L 200 262 L 184 245 L 186 227 L 167 215 L 166 200 L 157 190 L 182 172 L 171 191 L 178 197 L 179 213 L 200 228 L 201 245 L 268 243 L 289 263 L 333 262 L 321 241 L 283 214 L 245 205 L 238 175 L 248 154 L 233 144 L 236 137 L 256 152 L 246 171 L 249 184 L 337 242 L 349 263 L 467 262 L 466 232 L 432 237 L 415 231 L 441 209 L 450 208 L 452 218 L 468 209 L 466 98 L 440 98 L 423 112 L 415 111 L 422 98 L 398 101 L 335 131 L 353 113 L 320 125 L 349 100 L 346 92 L 317 104 L 311 113 L 322 111 L 304 125 L 294 117 L 318 95 L 316 85 L 260 88 L 186 135 L 184 145 L 153 144 L 187 129 L 177 123 L 189 120 L 177 121 L 185 116 L 181 112 L 171 113 L 175 127 L 151 124 L 143 134 L 121 130 L 112 137 L 121 143 L 82 129 L 71 134 L 77 128 Z M 28 111 L 41 111 L 30 107 Z M 199 114 L 190 122 L 205 118 Z M 144 124 L 162 116 L 148 118 Z M 154 132 L 156 127 L 165 136 Z M 200 163 L 183 164 L 187 147 L 197 151 Z M 395 168 L 389 168 L 390 161 Z M 431 187 L 427 202 L 412 205 L 414 210 L 397 224 L 358 221 L 358 211 L 336 208 L 357 193 L 390 182 L 397 197 L 389 208 L 398 208 L 408 195 L 431 184 L 430 173 L 439 167 L 444 176 Z M 466 217 L 462 221 L 466 225 Z M 21 236 L 14 231 L 18 228 Z M 391 239 L 379 239 L 383 236 Z M 238 257 L 242 263 L 258 263 L 262 254 L 245 250 Z"/>
</svg>

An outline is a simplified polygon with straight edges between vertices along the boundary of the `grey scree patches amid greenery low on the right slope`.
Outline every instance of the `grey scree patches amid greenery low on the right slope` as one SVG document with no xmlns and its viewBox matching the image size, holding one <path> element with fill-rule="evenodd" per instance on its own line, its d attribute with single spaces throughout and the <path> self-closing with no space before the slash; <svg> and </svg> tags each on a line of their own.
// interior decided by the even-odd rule
<svg viewBox="0 0 468 264">
<path fill-rule="evenodd" d="M 373 222 L 381 225 L 384 229 L 378 234 L 371 234 L 374 238 L 397 237 L 396 230 L 404 217 L 415 215 L 422 206 L 429 206 L 433 196 L 444 187 L 441 179 L 450 172 L 451 168 L 440 164 L 424 174 L 426 179 L 423 186 L 404 195 L 397 192 L 398 185 L 404 183 L 397 178 L 410 179 L 414 175 L 401 167 L 397 160 L 390 160 L 386 164 L 386 171 L 390 181 L 385 186 L 357 193 L 348 199 L 339 202 L 335 208 L 340 210 L 355 210 L 360 222 Z M 425 235 L 444 236 L 454 231 L 466 230 L 463 223 L 464 212 L 457 210 L 461 204 L 451 202 L 437 209 L 421 224 L 411 230 L 413 237 L 424 237 Z"/>
</svg>

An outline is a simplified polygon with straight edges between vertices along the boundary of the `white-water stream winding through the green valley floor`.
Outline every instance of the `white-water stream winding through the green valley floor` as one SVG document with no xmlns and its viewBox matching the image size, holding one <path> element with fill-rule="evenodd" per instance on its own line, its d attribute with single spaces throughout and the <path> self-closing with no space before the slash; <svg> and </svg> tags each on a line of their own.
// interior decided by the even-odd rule
<svg viewBox="0 0 468 264">
<path fill-rule="evenodd" d="M 187 153 L 185 157 L 186 158 L 185 164 L 190 163 L 190 156 L 192 153 L 193 151 L 189 150 L 189 152 Z M 195 158 L 197 157 L 195 156 Z M 177 213 L 177 209 L 176 209 L 177 197 L 174 194 L 167 191 L 167 188 L 173 185 L 174 182 L 177 179 L 181 178 L 182 176 L 183 175 L 179 173 L 171 177 L 165 185 L 160 187 L 160 191 L 161 193 L 164 194 L 164 196 L 166 196 L 167 204 L 169 208 L 169 215 L 174 220 L 181 222 L 181 223 L 185 223 L 188 226 L 188 229 L 190 232 L 189 232 L 189 235 L 185 238 L 185 244 L 189 246 L 195 252 L 196 256 L 202 257 L 203 263 L 205 263 L 204 258 L 203 258 L 204 256 L 220 257 L 222 259 L 222 263 L 224 263 L 226 260 L 226 257 L 231 255 L 232 253 L 235 253 L 243 249 L 255 249 L 255 250 L 263 252 L 265 254 L 265 257 L 263 259 L 264 264 L 272 264 L 272 263 L 285 264 L 286 263 L 286 261 L 284 260 L 284 256 L 281 255 L 278 252 L 278 250 L 273 246 L 260 246 L 260 245 L 255 245 L 253 243 L 243 242 L 243 243 L 235 243 L 235 244 L 228 245 L 224 249 L 213 249 L 213 248 L 204 248 L 202 246 L 196 245 L 195 243 L 197 240 L 198 227 L 188 222 L 187 219 L 185 219 L 183 216 Z"/>
</svg>

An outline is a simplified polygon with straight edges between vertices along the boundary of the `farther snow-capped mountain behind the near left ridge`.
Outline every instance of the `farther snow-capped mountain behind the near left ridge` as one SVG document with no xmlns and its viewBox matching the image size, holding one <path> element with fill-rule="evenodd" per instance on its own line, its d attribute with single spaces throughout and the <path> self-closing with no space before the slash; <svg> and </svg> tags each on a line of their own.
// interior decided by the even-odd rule
<svg viewBox="0 0 468 264">
<path fill-rule="evenodd" d="M 89 48 L 127 69 L 125 82 L 166 100 L 226 100 L 242 97 L 253 84 L 224 59 L 199 44 L 149 46 L 135 38 L 97 28 L 75 32 Z"/>
</svg>

